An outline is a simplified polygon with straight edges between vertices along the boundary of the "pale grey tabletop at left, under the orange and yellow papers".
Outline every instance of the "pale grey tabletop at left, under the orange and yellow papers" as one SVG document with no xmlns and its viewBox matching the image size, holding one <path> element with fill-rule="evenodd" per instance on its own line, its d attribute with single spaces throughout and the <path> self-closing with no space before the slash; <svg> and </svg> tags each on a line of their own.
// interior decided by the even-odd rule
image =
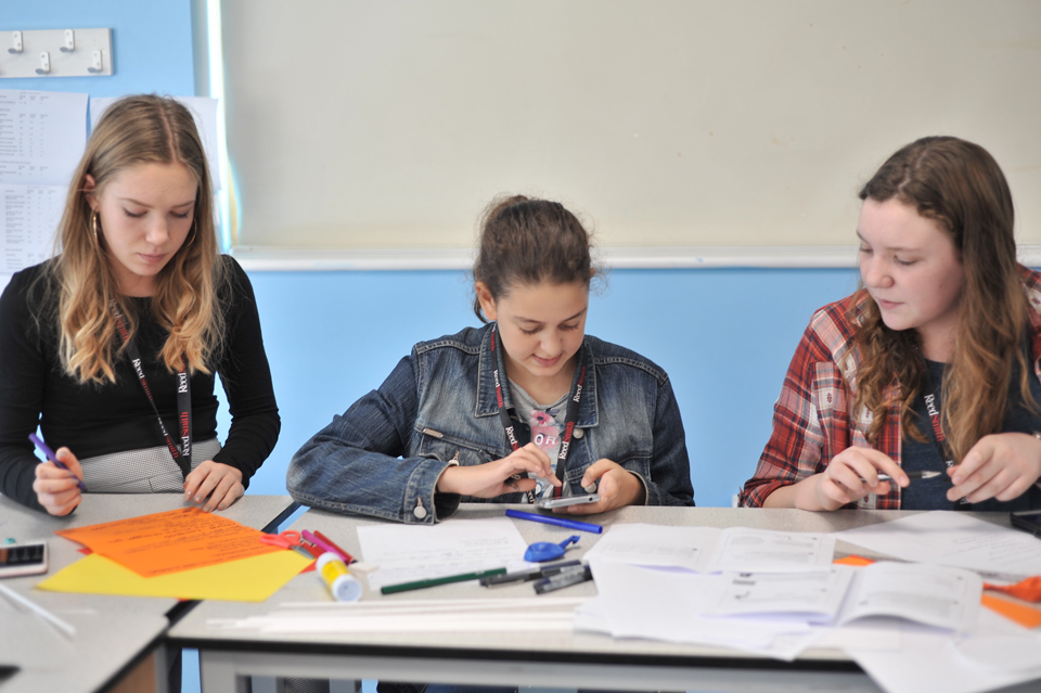
<svg viewBox="0 0 1041 693">
<path fill-rule="evenodd" d="M 221 514 L 249 527 L 278 524 L 293 510 L 288 496 L 246 495 Z M 0 541 L 47 539 L 50 574 L 82 557 L 73 541 L 54 536 L 60 529 L 136 517 L 183 508 L 178 493 L 87 493 L 67 517 L 53 517 L 0 497 Z M 154 652 L 163 636 L 195 602 L 167 598 L 70 594 L 33 589 L 46 575 L 7 578 L 3 583 L 76 627 L 68 639 L 49 624 L 0 596 L 0 670 L 18 670 L 0 679 L 0 693 L 98 691 L 112 685 Z M 159 688 L 166 680 L 164 657 L 156 663 Z"/>
</svg>

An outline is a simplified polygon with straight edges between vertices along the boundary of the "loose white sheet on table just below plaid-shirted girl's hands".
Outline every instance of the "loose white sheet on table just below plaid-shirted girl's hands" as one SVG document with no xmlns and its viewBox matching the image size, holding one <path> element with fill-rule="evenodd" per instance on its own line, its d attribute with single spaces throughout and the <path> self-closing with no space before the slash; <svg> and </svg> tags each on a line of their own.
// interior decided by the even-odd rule
<svg viewBox="0 0 1041 693">
<path fill-rule="evenodd" d="M 950 565 L 985 576 L 1041 575 L 1041 539 L 963 513 L 918 513 L 834 536 L 903 561 Z"/>
</svg>

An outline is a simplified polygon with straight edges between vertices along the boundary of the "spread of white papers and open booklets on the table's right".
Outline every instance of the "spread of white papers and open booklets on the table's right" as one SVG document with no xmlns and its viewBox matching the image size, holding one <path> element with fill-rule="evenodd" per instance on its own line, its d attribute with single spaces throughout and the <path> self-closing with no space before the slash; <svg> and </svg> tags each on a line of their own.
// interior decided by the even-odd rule
<svg viewBox="0 0 1041 693">
<path fill-rule="evenodd" d="M 835 537 L 615 526 L 588 554 L 599 596 L 579 608 L 576 627 L 782 659 L 839 647 L 891 693 L 973 693 L 1041 678 L 1041 633 L 981 609 L 982 579 L 966 569 L 1034 570 L 1041 542 L 939 515 L 838 534 L 930 560 L 863 568 L 831 564 Z"/>
</svg>

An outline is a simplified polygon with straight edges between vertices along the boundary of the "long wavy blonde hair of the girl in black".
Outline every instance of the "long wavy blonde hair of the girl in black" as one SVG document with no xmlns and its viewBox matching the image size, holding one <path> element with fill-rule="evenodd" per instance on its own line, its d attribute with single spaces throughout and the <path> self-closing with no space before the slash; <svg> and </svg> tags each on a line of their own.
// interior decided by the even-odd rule
<svg viewBox="0 0 1041 693">
<path fill-rule="evenodd" d="M 125 347 L 110 301 L 126 316 L 131 335 L 137 329 L 132 304 L 117 290 L 112 270 L 116 260 L 107 256 L 104 230 L 91 219 L 87 176 L 101 191 L 128 166 L 145 163 L 183 164 L 198 185 L 193 231 L 156 275 L 152 313 L 169 332 L 158 358 L 170 371 L 187 363 L 190 372 L 209 373 L 207 363 L 220 348 L 220 290 L 228 274 L 217 245 L 211 179 L 202 140 L 191 113 L 174 99 L 128 97 L 113 104 L 91 133 L 65 202 L 59 229 L 61 255 L 43 274 L 49 293 L 57 299 L 54 318 L 62 365 L 82 384 L 116 380 L 114 364 Z"/>
</svg>

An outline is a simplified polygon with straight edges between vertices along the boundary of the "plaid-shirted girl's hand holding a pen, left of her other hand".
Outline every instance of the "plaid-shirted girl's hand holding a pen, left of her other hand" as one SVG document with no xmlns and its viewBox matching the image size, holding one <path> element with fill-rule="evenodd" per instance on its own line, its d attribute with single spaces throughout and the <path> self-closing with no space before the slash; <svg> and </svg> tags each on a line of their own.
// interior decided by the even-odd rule
<svg viewBox="0 0 1041 693">
<path fill-rule="evenodd" d="M 795 491 L 793 504 L 802 510 L 837 510 L 869 493 L 888 493 L 889 482 L 879 482 L 879 473 L 888 474 L 901 487 L 911 483 L 900 465 L 884 452 L 871 448 L 846 448 L 823 472 L 789 487 Z"/>
</svg>

